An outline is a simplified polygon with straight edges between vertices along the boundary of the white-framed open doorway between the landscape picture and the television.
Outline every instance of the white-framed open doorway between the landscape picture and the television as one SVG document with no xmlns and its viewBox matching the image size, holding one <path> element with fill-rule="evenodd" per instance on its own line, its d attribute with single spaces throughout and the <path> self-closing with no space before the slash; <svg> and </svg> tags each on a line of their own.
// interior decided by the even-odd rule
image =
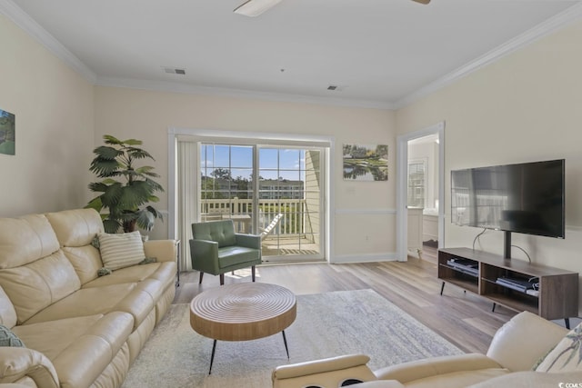
<svg viewBox="0 0 582 388">
<path fill-rule="evenodd" d="M 445 123 L 396 139 L 396 252 L 422 257 L 425 242 L 444 242 Z"/>
</svg>

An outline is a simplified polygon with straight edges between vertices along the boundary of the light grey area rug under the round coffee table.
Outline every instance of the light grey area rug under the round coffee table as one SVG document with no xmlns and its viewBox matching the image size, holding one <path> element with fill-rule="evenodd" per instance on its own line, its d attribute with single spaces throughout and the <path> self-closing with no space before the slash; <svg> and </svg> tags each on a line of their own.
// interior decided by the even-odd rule
<svg viewBox="0 0 582 388">
<path fill-rule="evenodd" d="M 460 354 L 452 343 L 373 290 L 297 295 L 297 318 L 282 334 L 216 345 L 192 330 L 188 304 L 174 304 L 130 367 L 123 388 L 268 388 L 278 365 L 348 353 L 370 356 L 372 369 Z"/>
</svg>

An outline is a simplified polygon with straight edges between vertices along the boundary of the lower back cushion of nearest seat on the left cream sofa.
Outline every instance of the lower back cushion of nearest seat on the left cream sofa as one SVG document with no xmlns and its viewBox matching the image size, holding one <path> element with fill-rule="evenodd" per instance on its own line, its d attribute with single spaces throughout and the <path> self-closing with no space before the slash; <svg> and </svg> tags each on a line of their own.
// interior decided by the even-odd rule
<svg viewBox="0 0 582 388">
<path fill-rule="evenodd" d="M 81 287 L 62 251 L 31 264 L 0 270 L 0 284 L 15 306 L 19 324 Z"/>
</svg>

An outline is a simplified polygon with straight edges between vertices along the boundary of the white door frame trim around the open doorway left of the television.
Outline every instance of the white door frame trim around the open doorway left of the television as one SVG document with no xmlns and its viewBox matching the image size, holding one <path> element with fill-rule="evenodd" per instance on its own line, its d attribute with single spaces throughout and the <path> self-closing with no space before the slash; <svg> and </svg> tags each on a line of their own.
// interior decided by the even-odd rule
<svg viewBox="0 0 582 388">
<path fill-rule="evenodd" d="M 396 136 L 396 260 L 406 262 L 408 257 L 408 142 L 429 134 L 438 135 L 438 248 L 445 240 L 445 122 Z"/>
</svg>

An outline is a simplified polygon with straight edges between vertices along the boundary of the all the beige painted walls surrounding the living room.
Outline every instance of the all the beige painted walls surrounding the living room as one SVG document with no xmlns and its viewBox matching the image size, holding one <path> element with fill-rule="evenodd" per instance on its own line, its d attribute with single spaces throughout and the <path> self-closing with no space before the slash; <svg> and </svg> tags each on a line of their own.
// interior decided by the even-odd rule
<svg viewBox="0 0 582 388">
<path fill-rule="evenodd" d="M 446 176 L 474 165 L 567 159 L 566 240 L 516 235 L 514 242 L 538 263 L 582 272 L 581 41 L 582 23 L 571 25 L 394 113 L 93 86 L 0 15 L 0 108 L 16 115 L 16 155 L 0 154 L 0 215 L 83 206 L 91 196 L 86 184 L 94 180 L 91 150 L 103 134 L 143 140 L 165 186 L 170 127 L 319 134 L 336 142 L 332 244 L 338 261 L 382 259 L 396 251 L 396 132 L 445 120 Z M 389 181 L 344 181 L 346 143 L 388 144 Z M 158 207 L 166 210 L 167 196 L 161 199 Z M 447 193 L 445 206 L 449 199 Z M 477 233 L 446 224 L 447 246 L 467 246 Z M 154 236 L 165 231 L 158 225 Z M 501 252 L 500 233 L 481 242 Z"/>
</svg>

